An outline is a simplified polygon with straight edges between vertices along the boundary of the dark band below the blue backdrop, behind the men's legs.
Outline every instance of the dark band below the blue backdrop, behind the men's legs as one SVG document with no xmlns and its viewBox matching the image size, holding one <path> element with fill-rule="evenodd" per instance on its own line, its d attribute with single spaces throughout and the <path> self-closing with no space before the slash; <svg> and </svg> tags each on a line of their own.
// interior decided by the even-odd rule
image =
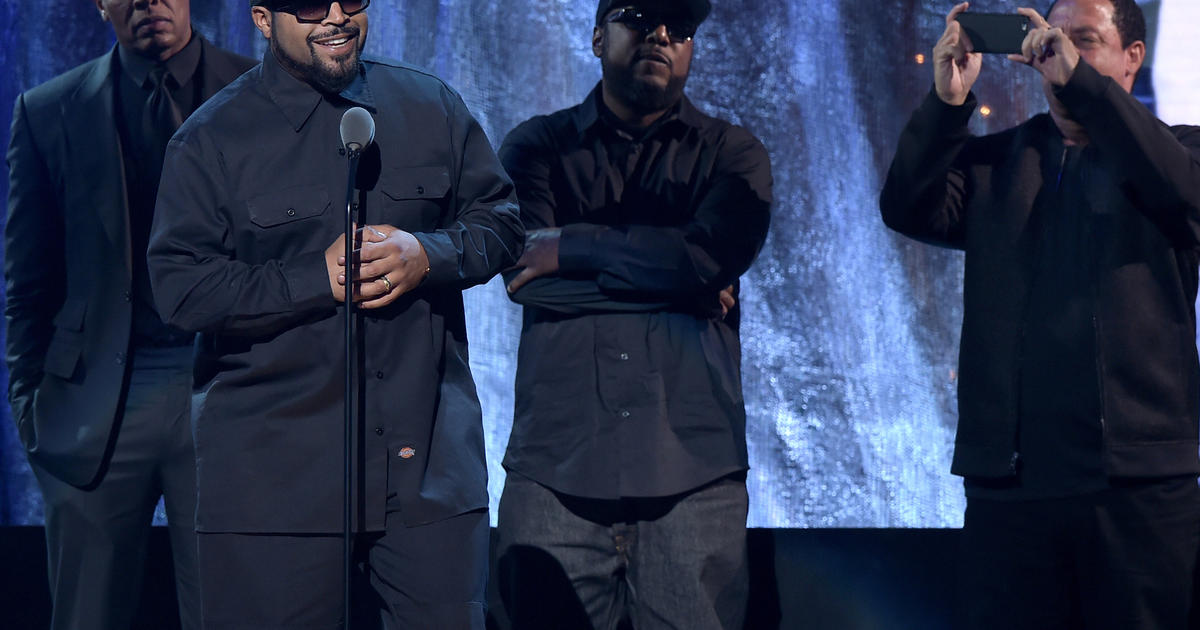
<svg viewBox="0 0 1200 630">
<path fill-rule="evenodd" d="M 751 529 L 745 628 L 949 630 L 958 540 L 958 529 Z M 168 545 L 155 527 L 134 630 L 179 628 Z M 44 629 L 42 528 L 0 527 L 0 628 Z M 506 630 L 492 590 L 488 628 Z"/>
</svg>

